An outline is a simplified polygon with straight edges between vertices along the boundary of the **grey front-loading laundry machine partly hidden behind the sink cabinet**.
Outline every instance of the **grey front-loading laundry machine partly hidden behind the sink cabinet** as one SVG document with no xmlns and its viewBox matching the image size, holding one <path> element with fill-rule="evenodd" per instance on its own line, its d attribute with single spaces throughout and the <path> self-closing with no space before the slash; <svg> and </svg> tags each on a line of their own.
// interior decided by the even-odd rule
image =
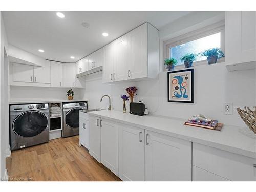
<svg viewBox="0 0 256 192">
<path fill-rule="evenodd" d="M 79 135 L 79 111 L 87 110 L 86 102 L 63 103 L 62 137 Z"/>
</svg>

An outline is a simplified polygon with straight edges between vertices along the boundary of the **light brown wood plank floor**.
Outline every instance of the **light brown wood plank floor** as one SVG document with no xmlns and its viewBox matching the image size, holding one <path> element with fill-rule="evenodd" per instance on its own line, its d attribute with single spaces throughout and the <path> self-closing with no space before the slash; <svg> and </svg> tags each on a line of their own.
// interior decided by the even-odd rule
<svg viewBox="0 0 256 192">
<path fill-rule="evenodd" d="M 121 181 L 79 146 L 79 136 L 13 151 L 6 168 L 10 181 Z"/>
</svg>

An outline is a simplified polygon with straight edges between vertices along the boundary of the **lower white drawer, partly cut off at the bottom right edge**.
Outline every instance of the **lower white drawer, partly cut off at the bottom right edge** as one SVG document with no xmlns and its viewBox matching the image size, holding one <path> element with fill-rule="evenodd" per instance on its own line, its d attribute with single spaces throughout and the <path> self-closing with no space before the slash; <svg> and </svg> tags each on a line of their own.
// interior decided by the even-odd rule
<svg viewBox="0 0 256 192">
<path fill-rule="evenodd" d="M 193 166 L 192 181 L 230 181 L 226 178 L 220 177 L 216 174 L 207 172 L 204 169 Z"/>
</svg>

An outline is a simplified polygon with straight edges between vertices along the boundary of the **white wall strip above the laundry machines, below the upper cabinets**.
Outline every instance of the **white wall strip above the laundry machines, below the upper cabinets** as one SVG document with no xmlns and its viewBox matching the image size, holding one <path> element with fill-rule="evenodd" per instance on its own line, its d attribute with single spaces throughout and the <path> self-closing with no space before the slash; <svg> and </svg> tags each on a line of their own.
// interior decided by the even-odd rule
<svg viewBox="0 0 256 192">
<path fill-rule="evenodd" d="M 65 100 L 69 88 L 11 86 L 10 101 Z M 73 88 L 74 99 L 81 99 L 83 88 Z"/>
</svg>

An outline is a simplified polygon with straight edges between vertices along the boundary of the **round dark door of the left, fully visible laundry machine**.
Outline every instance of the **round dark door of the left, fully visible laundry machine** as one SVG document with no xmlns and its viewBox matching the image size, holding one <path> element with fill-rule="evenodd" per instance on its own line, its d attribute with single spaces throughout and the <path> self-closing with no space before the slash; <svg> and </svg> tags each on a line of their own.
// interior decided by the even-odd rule
<svg viewBox="0 0 256 192">
<path fill-rule="evenodd" d="M 48 118 L 39 111 L 28 111 L 20 114 L 13 122 L 13 131 L 22 137 L 33 137 L 48 126 Z"/>
</svg>

